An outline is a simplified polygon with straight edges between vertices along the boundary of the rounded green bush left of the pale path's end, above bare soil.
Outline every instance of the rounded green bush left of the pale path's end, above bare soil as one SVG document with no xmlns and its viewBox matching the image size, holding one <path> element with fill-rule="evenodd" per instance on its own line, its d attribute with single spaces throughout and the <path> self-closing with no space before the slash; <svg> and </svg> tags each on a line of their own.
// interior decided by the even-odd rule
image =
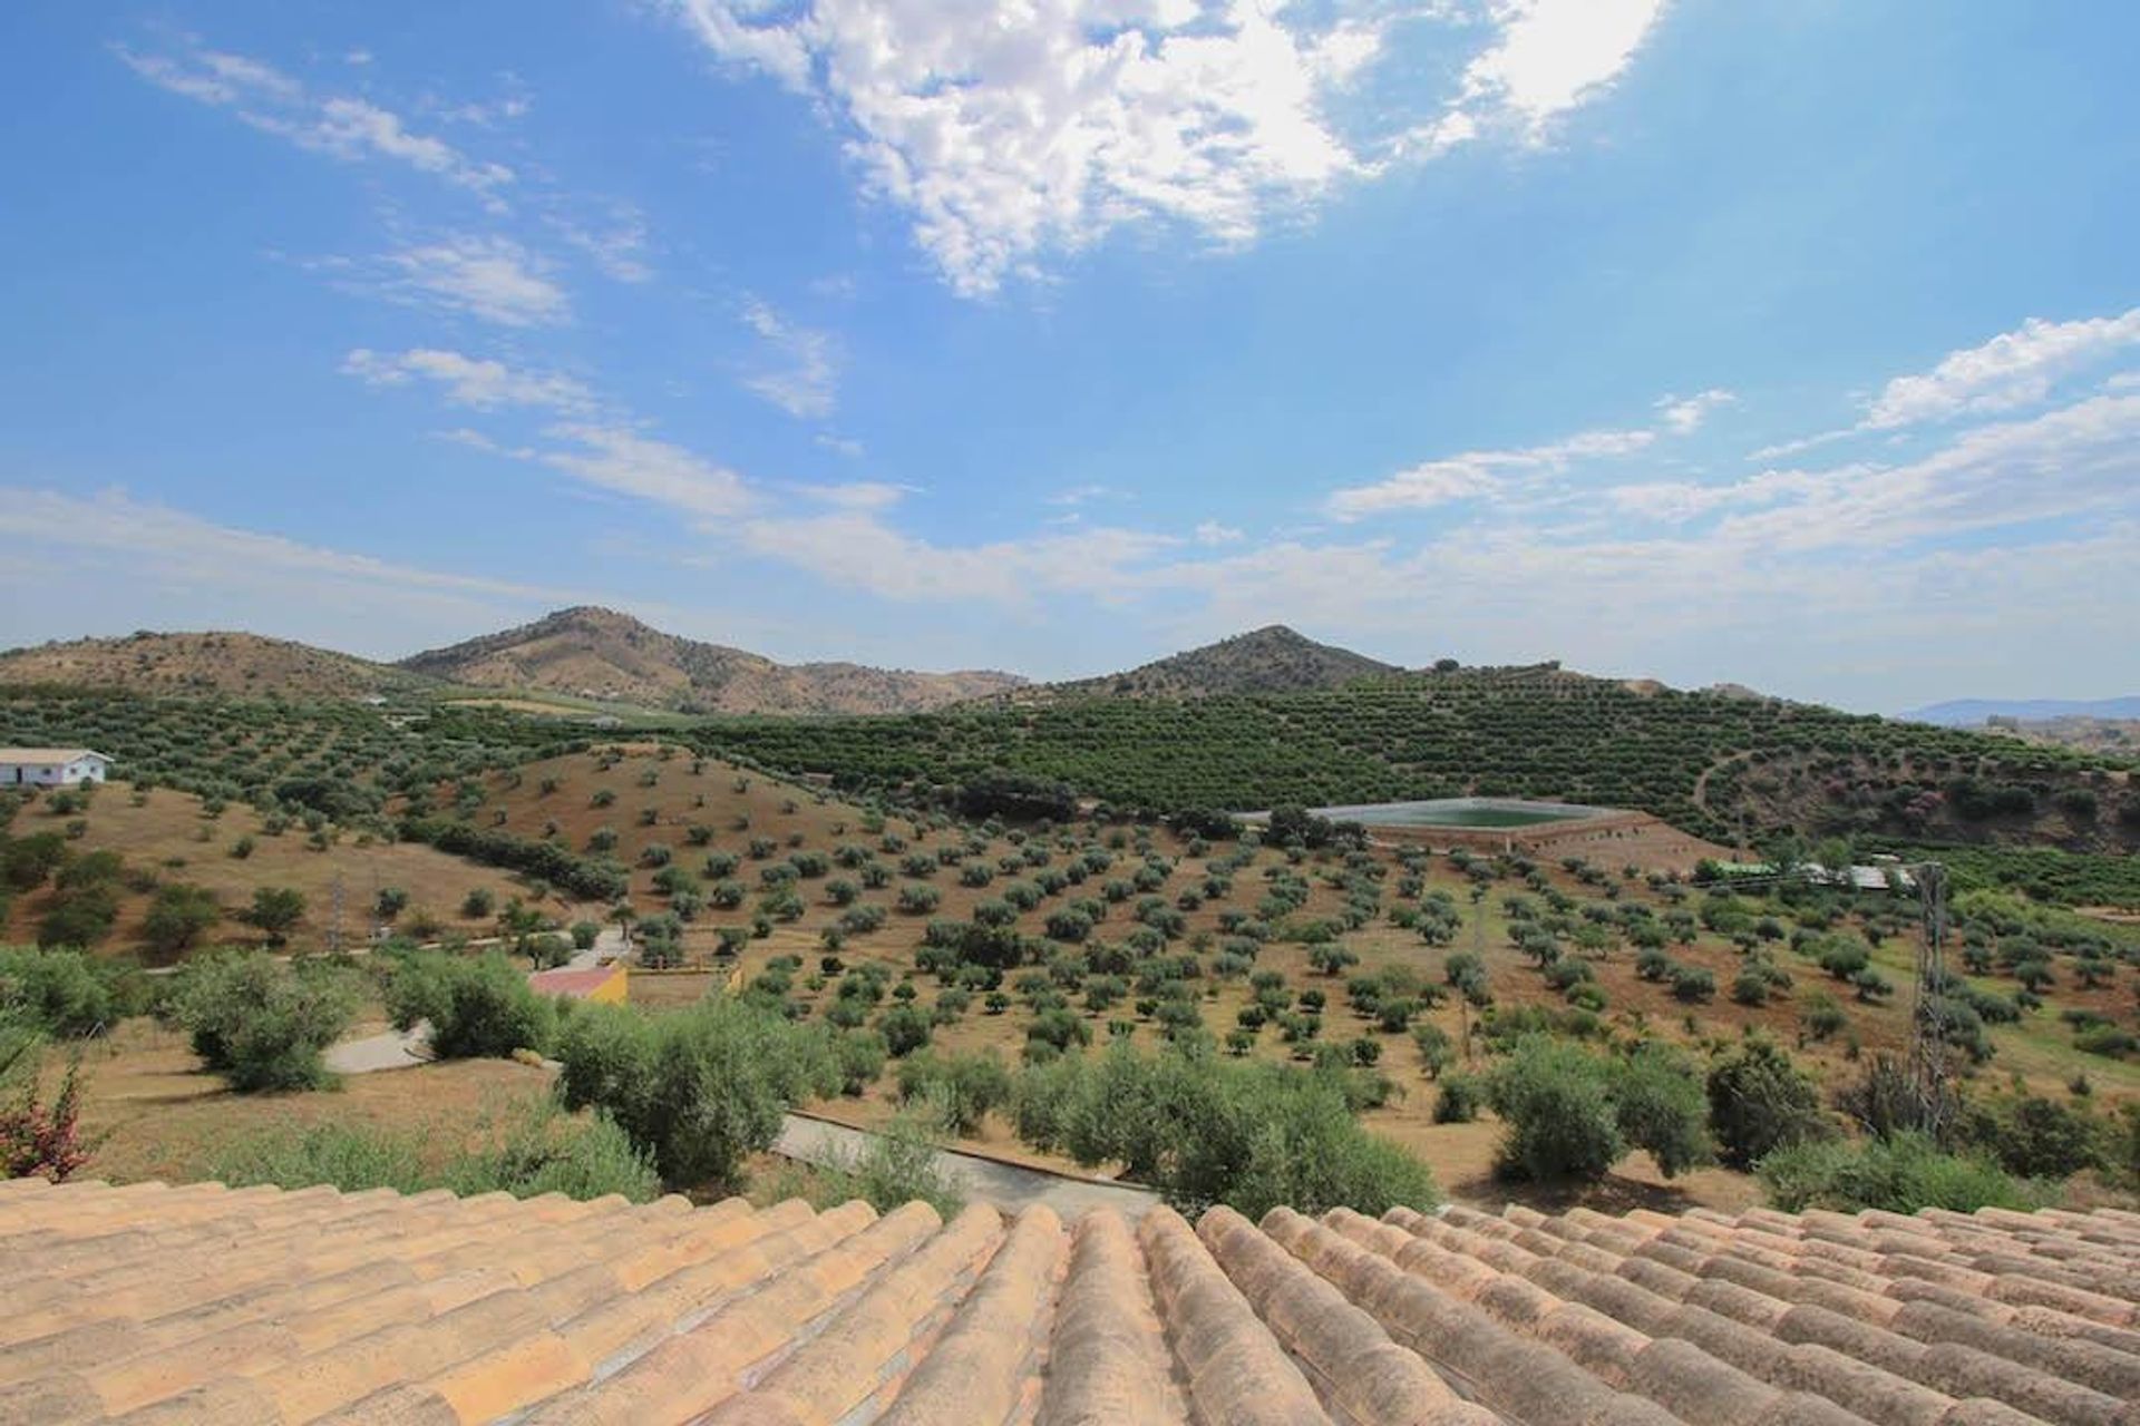
<svg viewBox="0 0 2140 1426">
<path fill-rule="evenodd" d="M 225 951 L 171 977 L 165 1013 L 233 1090 L 300 1090 L 327 1082 L 321 1054 L 355 1020 L 357 992 L 336 966 Z"/>
</svg>

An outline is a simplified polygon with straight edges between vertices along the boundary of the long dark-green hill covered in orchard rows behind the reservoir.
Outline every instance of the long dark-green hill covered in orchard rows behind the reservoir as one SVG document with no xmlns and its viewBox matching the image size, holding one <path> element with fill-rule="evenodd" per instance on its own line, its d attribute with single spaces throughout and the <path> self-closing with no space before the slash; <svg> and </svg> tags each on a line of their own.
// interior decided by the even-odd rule
<svg viewBox="0 0 2140 1426">
<path fill-rule="evenodd" d="M 1511 795 L 1644 810 L 1718 842 L 1793 827 L 2140 844 L 2125 759 L 1721 691 L 1635 693 L 1549 665 L 807 727 L 713 720 L 698 740 L 910 797 L 1002 770 L 1160 810 Z"/>
</svg>

